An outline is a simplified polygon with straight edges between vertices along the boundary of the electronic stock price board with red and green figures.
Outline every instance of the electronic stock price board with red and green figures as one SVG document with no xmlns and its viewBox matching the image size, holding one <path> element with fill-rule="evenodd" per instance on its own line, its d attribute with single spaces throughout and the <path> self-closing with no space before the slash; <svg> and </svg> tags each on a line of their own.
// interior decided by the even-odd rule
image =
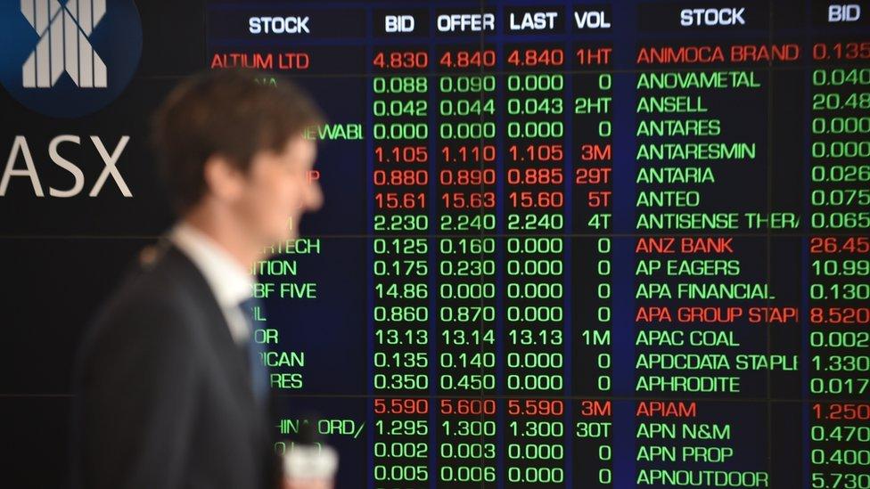
<svg viewBox="0 0 870 489">
<path fill-rule="evenodd" d="M 210 5 L 329 114 L 255 271 L 276 429 L 360 487 L 870 487 L 868 16 Z"/>
</svg>

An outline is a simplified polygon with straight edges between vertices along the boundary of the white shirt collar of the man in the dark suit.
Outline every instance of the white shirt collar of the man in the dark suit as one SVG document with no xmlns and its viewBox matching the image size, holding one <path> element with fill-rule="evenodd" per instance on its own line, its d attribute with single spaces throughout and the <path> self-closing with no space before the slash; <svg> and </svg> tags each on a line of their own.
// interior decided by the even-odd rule
<svg viewBox="0 0 870 489">
<path fill-rule="evenodd" d="M 169 232 L 169 240 L 191 259 L 209 283 L 235 343 L 242 345 L 248 341 L 248 321 L 239 303 L 250 298 L 253 290 L 254 279 L 249 271 L 215 240 L 190 224 L 176 224 Z"/>
</svg>

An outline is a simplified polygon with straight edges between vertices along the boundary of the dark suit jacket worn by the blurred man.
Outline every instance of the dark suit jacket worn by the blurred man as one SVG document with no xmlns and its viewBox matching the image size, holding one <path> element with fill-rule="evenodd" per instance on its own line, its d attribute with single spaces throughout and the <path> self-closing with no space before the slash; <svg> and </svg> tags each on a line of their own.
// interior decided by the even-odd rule
<svg viewBox="0 0 870 489">
<path fill-rule="evenodd" d="M 79 351 L 73 487 L 275 489 L 274 428 L 243 350 L 199 269 L 168 241 L 161 248 Z"/>
</svg>

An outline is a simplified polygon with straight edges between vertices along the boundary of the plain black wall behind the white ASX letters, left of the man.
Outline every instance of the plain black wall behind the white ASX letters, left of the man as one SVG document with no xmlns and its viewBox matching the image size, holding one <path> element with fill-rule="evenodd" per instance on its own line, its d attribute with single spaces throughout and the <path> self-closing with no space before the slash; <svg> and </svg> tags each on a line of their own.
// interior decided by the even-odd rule
<svg viewBox="0 0 870 489">
<path fill-rule="evenodd" d="M 205 1 L 138 1 L 143 52 L 133 81 L 103 110 L 85 118 L 48 118 L 0 89 L 3 164 L 16 135 L 27 137 L 46 197 L 27 178 L 13 177 L 0 198 L 0 486 L 64 487 L 70 431 L 70 371 L 88 317 L 113 289 L 131 257 L 172 222 L 152 165 L 147 120 L 178 79 L 205 66 Z M 47 196 L 69 188 L 71 176 L 48 158 L 59 134 L 81 136 L 80 151 L 62 155 L 85 173 L 77 197 Z M 96 198 L 86 193 L 103 169 L 88 136 L 111 151 L 130 142 L 119 160 L 134 198 L 111 179 Z M 19 161 L 17 167 L 23 163 Z"/>
</svg>

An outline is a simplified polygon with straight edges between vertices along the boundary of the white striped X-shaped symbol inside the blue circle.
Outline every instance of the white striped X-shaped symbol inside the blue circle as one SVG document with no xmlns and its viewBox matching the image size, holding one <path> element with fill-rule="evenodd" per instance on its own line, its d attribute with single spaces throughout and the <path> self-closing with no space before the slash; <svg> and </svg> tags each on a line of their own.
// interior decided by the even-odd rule
<svg viewBox="0 0 870 489">
<path fill-rule="evenodd" d="M 106 0 L 21 0 L 21 13 L 39 35 L 21 67 L 27 88 L 50 88 L 66 71 L 82 88 L 105 88 L 106 65 L 88 38 L 106 13 Z"/>
</svg>

